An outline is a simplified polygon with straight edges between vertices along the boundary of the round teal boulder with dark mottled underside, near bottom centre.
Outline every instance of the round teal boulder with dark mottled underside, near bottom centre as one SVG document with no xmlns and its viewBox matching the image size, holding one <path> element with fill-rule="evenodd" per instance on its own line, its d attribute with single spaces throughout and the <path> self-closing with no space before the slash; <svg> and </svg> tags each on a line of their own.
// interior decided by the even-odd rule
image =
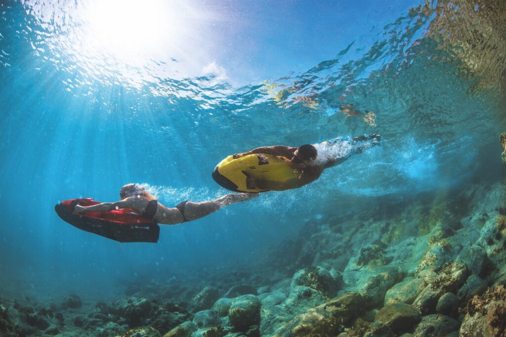
<svg viewBox="0 0 506 337">
<path fill-rule="evenodd" d="M 240 331 L 251 325 L 260 325 L 260 301 L 254 295 L 243 295 L 234 299 L 228 310 L 230 324 Z"/>
</svg>

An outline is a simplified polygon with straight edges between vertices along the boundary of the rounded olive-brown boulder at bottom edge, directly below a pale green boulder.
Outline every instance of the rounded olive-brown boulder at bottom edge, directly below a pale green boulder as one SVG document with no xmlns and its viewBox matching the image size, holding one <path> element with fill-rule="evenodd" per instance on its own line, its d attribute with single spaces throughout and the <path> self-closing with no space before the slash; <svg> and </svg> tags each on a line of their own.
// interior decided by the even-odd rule
<svg viewBox="0 0 506 337">
<path fill-rule="evenodd" d="M 389 304 L 378 311 L 375 321 L 384 323 L 394 333 L 401 334 L 412 330 L 420 321 L 420 311 L 404 303 Z"/>
</svg>

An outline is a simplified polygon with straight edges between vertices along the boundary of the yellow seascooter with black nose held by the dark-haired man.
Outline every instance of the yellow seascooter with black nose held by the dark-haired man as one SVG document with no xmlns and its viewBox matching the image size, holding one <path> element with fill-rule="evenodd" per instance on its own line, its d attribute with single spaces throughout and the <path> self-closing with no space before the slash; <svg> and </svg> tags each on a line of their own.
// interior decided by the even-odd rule
<svg viewBox="0 0 506 337">
<path fill-rule="evenodd" d="M 213 171 L 215 181 L 234 192 L 264 192 L 268 189 L 248 187 L 246 179 L 256 181 L 279 181 L 299 177 L 300 172 L 290 167 L 290 160 L 268 154 L 253 154 L 234 159 L 228 156 L 216 165 Z"/>
</svg>

